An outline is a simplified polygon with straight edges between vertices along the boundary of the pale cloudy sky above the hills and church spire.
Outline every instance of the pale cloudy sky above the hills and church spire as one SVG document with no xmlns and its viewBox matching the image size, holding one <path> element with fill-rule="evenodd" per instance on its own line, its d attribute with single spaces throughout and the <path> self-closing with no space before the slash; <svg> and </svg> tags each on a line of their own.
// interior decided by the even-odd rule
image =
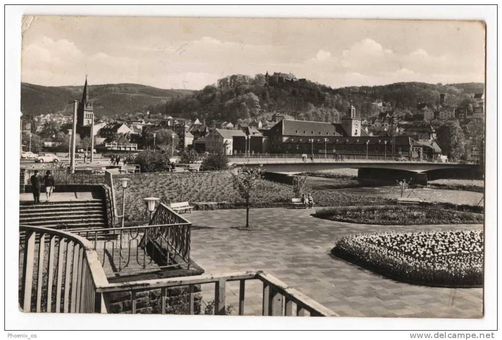
<svg viewBox="0 0 502 340">
<path fill-rule="evenodd" d="M 201 89 L 292 72 L 332 87 L 483 82 L 478 22 L 25 17 L 22 81 Z"/>
</svg>

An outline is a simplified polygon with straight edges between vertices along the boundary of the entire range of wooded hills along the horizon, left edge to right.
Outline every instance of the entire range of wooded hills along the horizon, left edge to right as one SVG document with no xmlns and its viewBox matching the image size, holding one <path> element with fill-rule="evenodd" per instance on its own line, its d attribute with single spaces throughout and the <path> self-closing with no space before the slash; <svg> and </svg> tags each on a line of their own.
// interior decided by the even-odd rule
<svg viewBox="0 0 502 340">
<path fill-rule="evenodd" d="M 72 113 L 73 100 L 82 96 L 83 86 L 47 87 L 21 84 L 21 110 L 24 115 Z M 200 91 L 165 90 L 138 84 L 90 85 L 90 97 L 97 117 L 126 117 L 136 112 L 174 117 L 225 120 L 262 118 L 283 112 L 298 119 L 336 122 L 350 103 L 366 118 L 378 113 L 372 102 L 413 114 L 419 102 L 439 105 L 439 94 L 446 93 L 448 105 L 468 105 L 470 93 L 482 93 L 482 83 L 426 84 L 395 83 L 381 86 L 352 86 L 333 89 L 308 80 L 267 83 L 265 75 L 232 75 L 219 79 Z"/>
</svg>

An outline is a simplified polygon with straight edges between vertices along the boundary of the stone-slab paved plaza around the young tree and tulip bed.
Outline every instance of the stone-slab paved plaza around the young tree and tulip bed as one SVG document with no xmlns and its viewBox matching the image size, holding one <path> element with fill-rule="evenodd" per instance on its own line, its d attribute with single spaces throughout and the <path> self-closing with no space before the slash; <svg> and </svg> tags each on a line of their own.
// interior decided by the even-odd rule
<svg viewBox="0 0 502 340">
<path fill-rule="evenodd" d="M 481 225 L 373 226 L 317 219 L 304 209 L 252 209 L 256 231 L 241 231 L 245 210 L 196 211 L 192 259 L 207 274 L 264 270 L 340 316 L 482 316 L 481 288 L 435 288 L 397 282 L 340 260 L 330 250 L 343 236 L 377 231 L 482 228 Z M 246 289 L 246 313 L 261 311 L 258 282 Z M 227 304 L 238 306 L 238 283 L 227 287 Z M 210 295 L 204 294 L 204 300 Z M 249 299 L 247 298 L 249 297 Z"/>
</svg>

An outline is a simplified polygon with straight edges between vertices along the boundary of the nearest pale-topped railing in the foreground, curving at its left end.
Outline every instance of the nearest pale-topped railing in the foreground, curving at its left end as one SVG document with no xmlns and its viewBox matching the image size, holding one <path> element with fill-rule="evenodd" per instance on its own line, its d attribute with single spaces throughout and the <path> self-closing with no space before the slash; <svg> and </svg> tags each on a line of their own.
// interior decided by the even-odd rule
<svg viewBox="0 0 502 340">
<path fill-rule="evenodd" d="M 107 313 L 111 295 L 128 292 L 131 313 L 137 313 L 141 292 L 160 292 L 160 313 L 166 313 L 170 288 L 188 291 L 186 313 L 194 314 L 196 285 L 214 284 L 214 314 L 225 314 L 226 283 L 239 282 L 238 314 L 244 314 L 249 280 L 263 283 L 262 315 L 337 316 L 298 290 L 262 271 L 183 276 L 109 283 L 88 240 L 73 233 L 20 226 L 20 306 L 26 311 Z"/>
</svg>

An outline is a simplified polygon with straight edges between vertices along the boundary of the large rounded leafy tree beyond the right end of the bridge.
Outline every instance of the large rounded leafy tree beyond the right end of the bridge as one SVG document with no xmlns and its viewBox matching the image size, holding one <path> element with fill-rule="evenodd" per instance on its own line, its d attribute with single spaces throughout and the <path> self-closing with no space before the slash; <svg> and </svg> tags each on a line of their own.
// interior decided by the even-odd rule
<svg viewBox="0 0 502 340">
<path fill-rule="evenodd" d="M 438 145 L 449 159 L 457 160 L 464 154 L 465 137 L 458 120 L 448 121 L 437 129 L 436 134 Z"/>
</svg>

